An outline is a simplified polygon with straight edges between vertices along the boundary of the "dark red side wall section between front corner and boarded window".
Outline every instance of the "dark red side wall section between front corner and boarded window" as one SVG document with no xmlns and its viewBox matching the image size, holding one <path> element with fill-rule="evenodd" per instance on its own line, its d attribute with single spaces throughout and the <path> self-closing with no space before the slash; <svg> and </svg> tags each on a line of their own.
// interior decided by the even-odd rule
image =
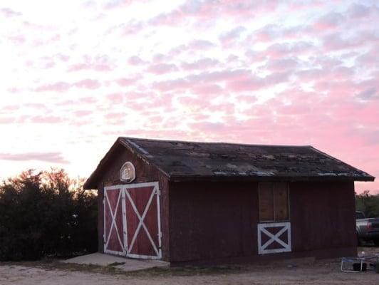
<svg viewBox="0 0 379 285">
<path fill-rule="evenodd" d="M 170 261 L 257 254 L 257 184 L 170 185 Z"/>
</svg>

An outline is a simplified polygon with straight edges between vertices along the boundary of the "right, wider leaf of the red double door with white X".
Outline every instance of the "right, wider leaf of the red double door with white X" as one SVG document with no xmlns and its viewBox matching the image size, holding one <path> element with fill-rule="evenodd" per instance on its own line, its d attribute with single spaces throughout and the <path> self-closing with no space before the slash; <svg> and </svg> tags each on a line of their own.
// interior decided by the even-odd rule
<svg viewBox="0 0 379 285">
<path fill-rule="evenodd" d="M 157 182 L 125 185 L 127 257 L 162 257 L 159 194 Z"/>
</svg>

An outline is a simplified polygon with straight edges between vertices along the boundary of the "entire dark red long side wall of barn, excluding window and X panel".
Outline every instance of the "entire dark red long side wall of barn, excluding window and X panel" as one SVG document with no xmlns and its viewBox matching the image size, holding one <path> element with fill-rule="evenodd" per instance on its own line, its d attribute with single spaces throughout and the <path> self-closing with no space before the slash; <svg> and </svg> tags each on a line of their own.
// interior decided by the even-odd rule
<svg viewBox="0 0 379 285">
<path fill-rule="evenodd" d="M 172 183 L 172 264 L 356 254 L 353 182 L 291 183 L 292 252 L 264 256 L 257 250 L 257 186 L 255 182 Z"/>
</svg>

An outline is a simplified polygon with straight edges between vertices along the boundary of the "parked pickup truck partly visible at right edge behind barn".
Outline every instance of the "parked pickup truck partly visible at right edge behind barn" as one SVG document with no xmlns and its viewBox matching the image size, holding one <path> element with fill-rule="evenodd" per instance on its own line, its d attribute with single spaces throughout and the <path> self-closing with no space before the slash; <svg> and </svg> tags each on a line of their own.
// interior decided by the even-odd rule
<svg viewBox="0 0 379 285">
<path fill-rule="evenodd" d="M 360 211 L 355 212 L 358 244 L 373 241 L 379 246 L 379 218 L 366 218 Z"/>
</svg>

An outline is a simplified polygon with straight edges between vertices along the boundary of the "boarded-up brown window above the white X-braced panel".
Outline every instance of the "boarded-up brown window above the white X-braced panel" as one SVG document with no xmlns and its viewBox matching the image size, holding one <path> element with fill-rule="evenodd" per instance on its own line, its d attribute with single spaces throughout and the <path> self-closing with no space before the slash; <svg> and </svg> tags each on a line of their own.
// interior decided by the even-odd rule
<svg viewBox="0 0 379 285">
<path fill-rule="evenodd" d="M 259 183 L 259 219 L 261 222 L 289 219 L 287 183 Z"/>
</svg>

